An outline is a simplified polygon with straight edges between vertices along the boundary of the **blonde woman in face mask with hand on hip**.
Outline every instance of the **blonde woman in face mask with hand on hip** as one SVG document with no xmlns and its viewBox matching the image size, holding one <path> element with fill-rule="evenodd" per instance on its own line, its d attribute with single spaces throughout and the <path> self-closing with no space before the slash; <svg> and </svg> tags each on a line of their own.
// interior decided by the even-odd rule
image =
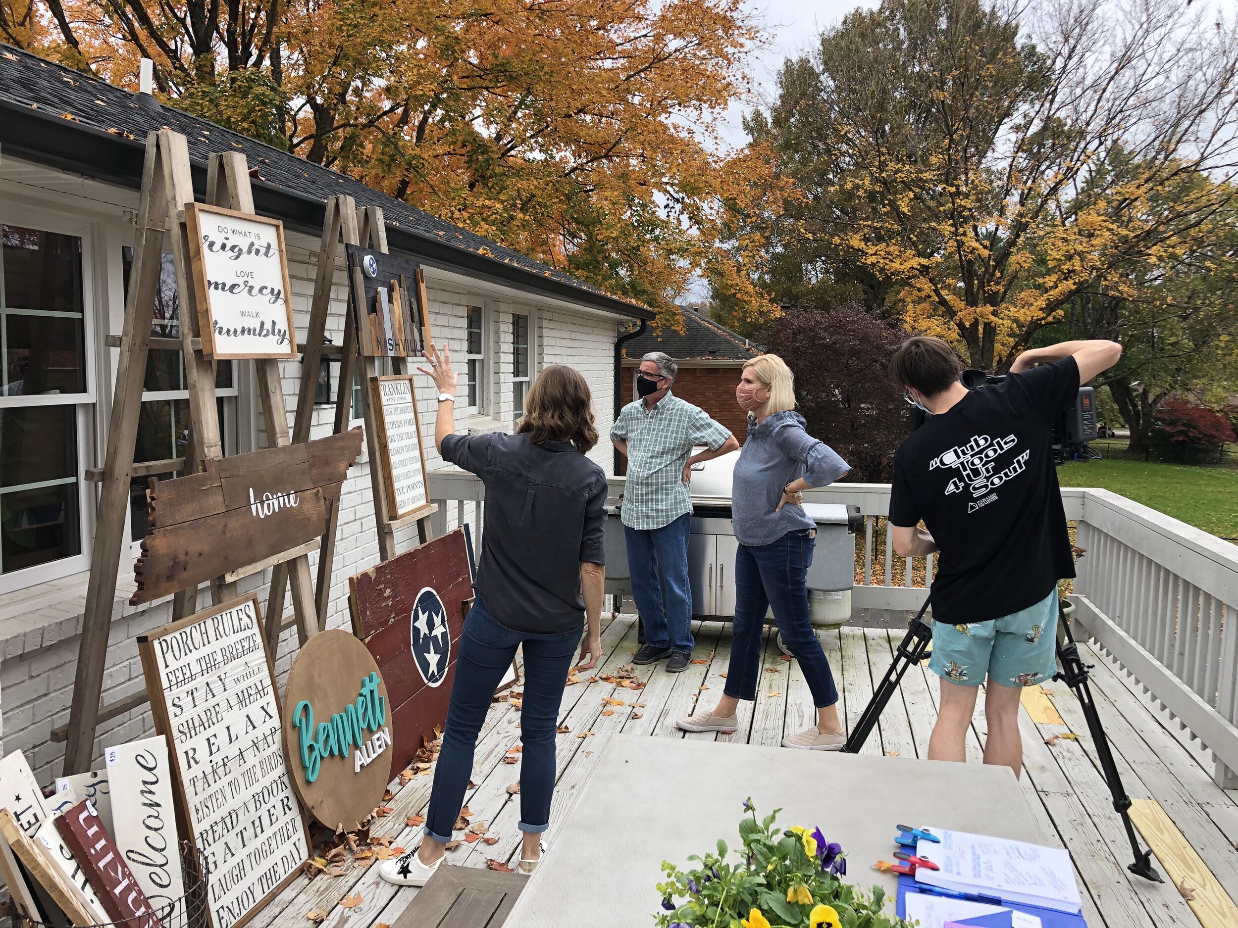
<svg viewBox="0 0 1238 928">
<path fill-rule="evenodd" d="M 832 484 L 851 466 L 810 436 L 795 412 L 795 380 L 781 358 L 763 354 L 744 365 L 735 401 L 748 412 L 748 440 L 735 463 L 732 525 L 735 554 L 735 619 L 727 687 L 718 705 L 687 719 L 685 731 L 734 731 L 740 699 L 756 698 L 765 615 L 800 662 L 812 690 L 817 724 L 782 740 L 784 747 L 837 751 L 847 741 L 838 719 L 838 689 L 826 652 L 808 619 L 808 567 L 816 525 L 803 511 L 803 491 Z"/>
</svg>

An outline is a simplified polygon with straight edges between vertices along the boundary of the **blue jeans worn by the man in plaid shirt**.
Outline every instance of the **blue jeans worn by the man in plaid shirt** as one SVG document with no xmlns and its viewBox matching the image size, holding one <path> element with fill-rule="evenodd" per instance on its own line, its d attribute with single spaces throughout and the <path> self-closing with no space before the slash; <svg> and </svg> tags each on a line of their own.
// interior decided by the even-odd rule
<svg viewBox="0 0 1238 928">
<path fill-rule="evenodd" d="M 631 598 L 645 624 L 645 643 L 691 653 L 692 586 L 688 584 L 688 528 L 685 512 L 661 528 L 623 527 L 628 542 Z M 661 574 L 661 578 L 659 578 Z"/>
</svg>

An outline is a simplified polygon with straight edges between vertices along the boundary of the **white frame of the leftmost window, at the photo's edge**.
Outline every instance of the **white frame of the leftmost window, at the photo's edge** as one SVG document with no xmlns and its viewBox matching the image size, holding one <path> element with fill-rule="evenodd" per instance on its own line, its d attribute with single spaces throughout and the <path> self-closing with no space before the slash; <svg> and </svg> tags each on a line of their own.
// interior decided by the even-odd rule
<svg viewBox="0 0 1238 928">
<path fill-rule="evenodd" d="M 82 243 L 82 360 L 85 364 L 85 392 L 54 396 L 0 396 L 0 410 L 33 406 L 76 406 L 78 532 L 80 553 L 50 561 L 12 573 L 0 573 L 0 594 L 58 580 L 89 569 L 90 543 L 94 537 L 94 488 L 85 480 L 87 458 L 94 450 L 94 410 L 98 402 L 98 353 L 95 351 L 95 228 L 89 221 L 69 218 L 54 210 L 17 210 L 14 204 L 0 203 L 0 224 L 36 229 L 58 235 L 73 235 Z M 6 363 L 0 351 L 0 363 Z M 68 479 L 64 479 L 68 483 Z M 38 484 L 21 484 L 30 489 Z M 9 488 L 11 492 L 16 488 Z"/>
</svg>

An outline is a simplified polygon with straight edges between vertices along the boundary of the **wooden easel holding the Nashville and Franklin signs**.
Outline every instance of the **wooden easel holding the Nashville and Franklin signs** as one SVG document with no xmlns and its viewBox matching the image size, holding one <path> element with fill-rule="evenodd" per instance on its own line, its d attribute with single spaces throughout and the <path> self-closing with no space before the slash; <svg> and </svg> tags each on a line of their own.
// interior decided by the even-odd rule
<svg viewBox="0 0 1238 928">
<path fill-rule="evenodd" d="M 314 381 L 318 377 L 318 365 L 328 356 L 324 343 L 327 317 L 331 312 L 331 288 L 335 276 L 335 259 L 342 252 L 339 245 L 360 245 L 387 254 L 386 225 L 383 210 L 378 207 L 358 209 L 348 195 L 333 195 L 327 199 L 327 215 L 322 226 L 322 241 L 318 245 L 318 273 L 314 278 L 313 299 L 310 303 L 310 325 L 306 329 L 305 359 L 301 366 L 301 387 L 297 391 L 297 407 L 293 413 L 292 440 L 310 440 L 310 426 L 313 421 Z M 418 275 L 420 277 L 420 275 Z M 359 306 L 365 304 L 364 285 L 360 278 L 349 272 L 349 294 Z M 418 280 L 417 301 L 428 316 L 423 285 Z M 361 375 L 361 415 L 365 419 L 365 444 L 370 462 L 370 485 L 374 495 L 374 518 L 378 525 L 379 559 L 390 561 L 395 557 L 395 532 L 412 522 L 417 523 L 420 543 L 433 538 L 430 517 L 437 507 L 427 505 L 418 512 L 404 518 L 392 520 L 387 512 L 387 495 L 383 468 L 379 466 L 378 429 L 374 424 L 374 410 L 370 402 L 369 381 L 375 376 L 375 359 L 361 354 L 357 343 L 357 327 L 352 308 L 344 311 L 344 344 L 339 349 L 339 387 L 335 393 L 335 422 L 333 433 L 339 434 L 348 428 L 353 408 L 353 375 L 360 369 Z M 405 374 L 407 361 L 404 358 L 391 359 L 396 374 Z M 318 625 L 327 624 L 327 606 L 331 599 L 331 573 L 335 558 L 335 530 L 339 525 L 339 507 L 328 507 L 327 532 L 322 536 L 318 551 L 318 580 L 316 586 L 316 605 Z M 276 625 L 274 616 L 284 614 L 285 572 L 276 565 L 271 577 L 271 595 L 266 610 L 266 640 L 271 646 L 272 657 L 277 647 L 277 637 L 286 625 Z"/>
</svg>

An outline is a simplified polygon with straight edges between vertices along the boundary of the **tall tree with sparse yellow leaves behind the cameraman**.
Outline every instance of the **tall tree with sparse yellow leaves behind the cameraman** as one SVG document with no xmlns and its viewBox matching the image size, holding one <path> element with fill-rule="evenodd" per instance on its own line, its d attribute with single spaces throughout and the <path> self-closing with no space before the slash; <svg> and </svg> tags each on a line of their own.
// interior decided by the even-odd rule
<svg viewBox="0 0 1238 928">
<path fill-rule="evenodd" d="M 763 280 L 864 298 L 990 370 L 1082 290 L 1134 297 L 1133 262 L 1175 265 L 1234 200 L 1238 33 L 1205 15 L 1177 0 L 852 12 L 749 120 L 797 193 L 764 221 Z"/>
</svg>

